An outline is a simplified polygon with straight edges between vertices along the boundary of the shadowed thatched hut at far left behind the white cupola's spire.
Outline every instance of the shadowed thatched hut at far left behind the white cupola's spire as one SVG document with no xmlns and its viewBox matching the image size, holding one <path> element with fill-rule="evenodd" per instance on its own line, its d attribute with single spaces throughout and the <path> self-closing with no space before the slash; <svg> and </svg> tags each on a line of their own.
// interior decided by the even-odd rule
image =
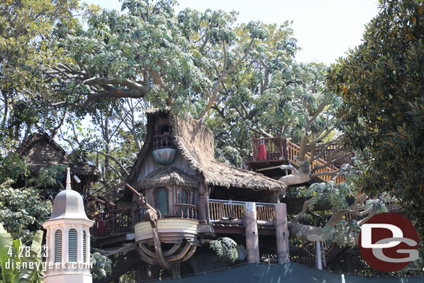
<svg viewBox="0 0 424 283">
<path fill-rule="evenodd" d="M 38 176 L 41 168 L 51 168 L 52 165 L 70 167 L 72 172 L 72 186 L 79 193 L 88 193 L 90 184 L 97 181 L 99 170 L 94 165 L 87 163 L 71 164 L 67 160 L 67 152 L 60 147 L 48 134 L 34 133 L 29 135 L 17 148 L 17 154 L 27 159 L 30 177 Z M 65 173 L 65 169 L 63 170 Z M 65 176 L 65 175 L 64 175 Z M 28 178 L 20 180 L 17 186 L 26 186 Z M 63 178 L 63 185 L 65 178 Z M 64 188 L 64 186 L 63 186 Z M 60 186 L 52 186 L 52 191 L 57 193 Z"/>
</svg>

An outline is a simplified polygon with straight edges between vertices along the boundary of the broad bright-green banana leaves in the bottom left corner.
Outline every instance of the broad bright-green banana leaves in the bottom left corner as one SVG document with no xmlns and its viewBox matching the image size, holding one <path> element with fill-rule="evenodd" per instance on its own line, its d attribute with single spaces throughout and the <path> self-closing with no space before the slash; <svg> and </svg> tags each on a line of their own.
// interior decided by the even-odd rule
<svg viewBox="0 0 424 283">
<path fill-rule="evenodd" d="M 0 224 L 0 266 L 1 282 L 3 283 L 42 283 L 44 272 L 41 268 L 42 257 L 42 230 L 35 232 L 31 247 L 22 245 L 22 241 L 6 232 Z M 29 248 L 28 252 L 26 248 Z M 22 252 L 23 251 L 23 252 Z M 6 262 L 10 263 L 10 268 L 6 268 Z M 29 266 L 32 263 L 34 268 L 17 268 Z M 39 268 L 36 268 L 38 266 Z"/>
</svg>

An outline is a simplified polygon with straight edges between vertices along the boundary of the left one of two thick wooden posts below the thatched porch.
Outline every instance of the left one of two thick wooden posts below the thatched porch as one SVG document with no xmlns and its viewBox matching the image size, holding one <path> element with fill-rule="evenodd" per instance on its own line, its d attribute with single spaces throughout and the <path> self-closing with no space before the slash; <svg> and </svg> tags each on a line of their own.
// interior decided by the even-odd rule
<svg viewBox="0 0 424 283">
<path fill-rule="evenodd" d="M 254 202 L 246 202 L 243 218 L 245 220 L 247 261 L 259 263 L 259 234 L 256 223 L 256 204 Z"/>
</svg>

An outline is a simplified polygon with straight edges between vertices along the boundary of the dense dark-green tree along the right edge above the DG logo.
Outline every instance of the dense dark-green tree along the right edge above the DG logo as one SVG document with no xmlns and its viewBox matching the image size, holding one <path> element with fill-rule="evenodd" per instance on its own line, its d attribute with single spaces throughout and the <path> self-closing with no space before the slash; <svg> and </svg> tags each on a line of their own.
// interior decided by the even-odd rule
<svg viewBox="0 0 424 283">
<path fill-rule="evenodd" d="M 343 99 L 345 143 L 364 156 L 364 191 L 389 191 L 424 227 L 424 20 L 422 1 L 381 1 L 364 43 L 332 67 Z"/>
</svg>

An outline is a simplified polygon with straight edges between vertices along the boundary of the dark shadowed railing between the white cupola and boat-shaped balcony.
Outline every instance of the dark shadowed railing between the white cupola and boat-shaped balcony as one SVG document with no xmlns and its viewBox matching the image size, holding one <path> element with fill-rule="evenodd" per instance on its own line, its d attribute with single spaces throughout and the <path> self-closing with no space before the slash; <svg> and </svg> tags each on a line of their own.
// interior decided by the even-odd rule
<svg viewBox="0 0 424 283">
<path fill-rule="evenodd" d="M 127 233 L 133 230 L 131 209 L 113 209 L 94 216 L 95 225 L 91 234 L 97 237 Z"/>
</svg>

